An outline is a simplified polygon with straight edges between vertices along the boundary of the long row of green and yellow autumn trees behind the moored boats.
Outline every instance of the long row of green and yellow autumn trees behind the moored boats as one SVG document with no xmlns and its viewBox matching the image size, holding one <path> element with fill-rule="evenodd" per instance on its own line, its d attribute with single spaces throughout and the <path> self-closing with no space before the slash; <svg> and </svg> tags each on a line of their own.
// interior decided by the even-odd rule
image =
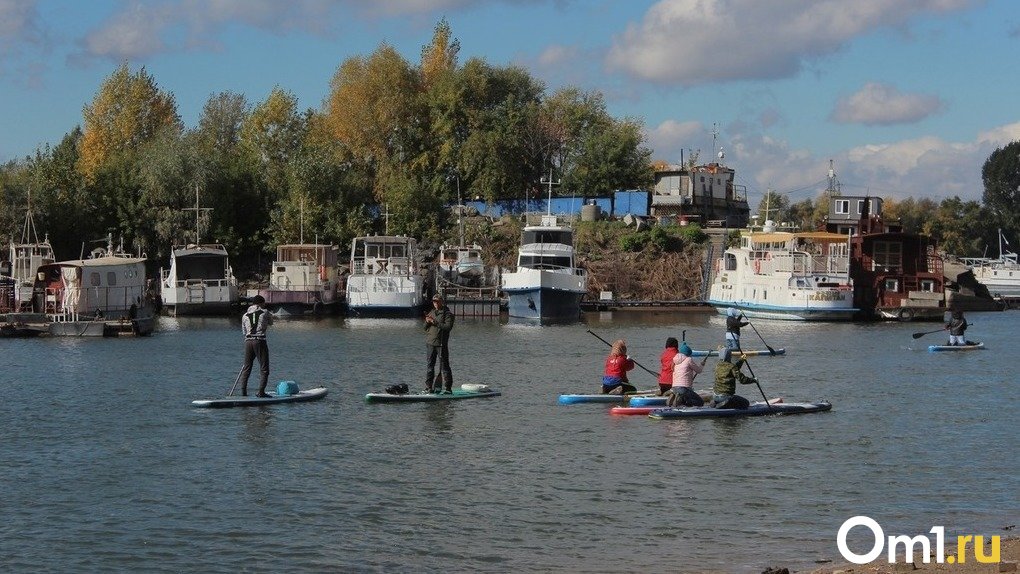
<svg viewBox="0 0 1020 574">
<path fill-rule="evenodd" d="M 371 232 L 439 239 L 445 205 L 649 188 L 642 123 L 603 96 L 547 93 L 519 66 L 458 60 L 441 20 L 412 64 L 382 44 L 341 62 L 318 109 L 276 87 L 265 100 L 224 92 L 184 125 L 174 97 L 144 68 L 118 66 L 54 146 L 0 166 L 0 233 L 18 239 L 31 202 L 61 259 L 112 233 L 165 260 L 173 245 L 222 243 L 241 272 L 278 244 L 346 246 Z M 385 212 L 385 216 L 384 215 Z"/>
</svg>

